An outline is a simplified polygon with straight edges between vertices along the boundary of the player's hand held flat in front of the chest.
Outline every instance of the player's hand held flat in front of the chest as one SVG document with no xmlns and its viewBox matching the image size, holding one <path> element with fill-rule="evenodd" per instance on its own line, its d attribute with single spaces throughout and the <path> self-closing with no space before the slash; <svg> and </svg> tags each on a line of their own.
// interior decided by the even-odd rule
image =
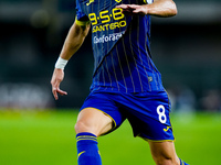
<svg viewBox="0 0 221 165">
<path fill-rule="evenodd" d="M 148 8 L 146 4 L 144 6 L 138 6 L 138 4 L 119 4 L 116 8 L 123 9 L 124 14 L 148 14 Z"/>
</svg>

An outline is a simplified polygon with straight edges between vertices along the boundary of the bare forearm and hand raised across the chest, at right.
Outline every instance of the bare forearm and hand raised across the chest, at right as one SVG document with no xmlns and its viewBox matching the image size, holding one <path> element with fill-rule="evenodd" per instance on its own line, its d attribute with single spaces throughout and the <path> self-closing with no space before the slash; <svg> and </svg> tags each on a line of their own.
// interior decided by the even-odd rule
<svg viewBox="0 0 221 165">
<path fill-rule="evenodd" d="M 156 16 L 173 16 L 177 14 L 177 7 L 172 0 L 154 0 L 150 4 L 120 4 L 116 8 L 123 9 L 125 14 L 149 14 Z"/>
</svg>

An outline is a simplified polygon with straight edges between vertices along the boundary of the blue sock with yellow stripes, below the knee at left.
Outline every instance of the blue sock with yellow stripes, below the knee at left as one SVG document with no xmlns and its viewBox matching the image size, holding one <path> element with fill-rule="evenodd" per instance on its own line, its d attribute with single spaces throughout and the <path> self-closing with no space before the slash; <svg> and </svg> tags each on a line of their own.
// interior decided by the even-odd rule
<svg viewBox="0 0 221 165">
<path fill-rule="evenodd" d="M 76 135 L 78 165 L 102 165 L 102 158 L 97 146 L 97 136 L 82 132 Z"/>
</svg>

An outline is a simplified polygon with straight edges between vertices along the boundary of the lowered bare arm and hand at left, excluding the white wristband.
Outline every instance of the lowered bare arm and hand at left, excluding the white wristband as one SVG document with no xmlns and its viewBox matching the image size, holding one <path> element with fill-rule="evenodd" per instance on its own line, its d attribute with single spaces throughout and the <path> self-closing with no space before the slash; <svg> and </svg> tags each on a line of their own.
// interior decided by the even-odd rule
<svg viewBox="0 0 221 165">
<path fill-rule="evenodd" d="M 83 44 L 86 35 L 90 31 L 90 22 L 88 21 L 75 21 L 74 24 L 71 26 L 69 34 L 66 36 L 66 40 L 64 42 L 64 45 L 62 47 L 60 58 L 62 61 L 69 61 L 76 51 L 81 47 Z M 67 95 L 66 91 L 63 91 L 60 89 L 60 84 L 64 78 L 64 70 L 63 68 L 54 68 L 51 85 L 52 85 L 52 94 L 55 98 L 55 100 L 59 99 L 57 94 L 60 95 Z"/>
</svg>

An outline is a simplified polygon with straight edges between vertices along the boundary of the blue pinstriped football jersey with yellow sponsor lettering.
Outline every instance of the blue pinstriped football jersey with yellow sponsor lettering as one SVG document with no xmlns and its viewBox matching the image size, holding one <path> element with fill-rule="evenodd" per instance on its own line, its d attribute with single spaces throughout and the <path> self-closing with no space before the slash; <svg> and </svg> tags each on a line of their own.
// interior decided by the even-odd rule
<svg viewBox="0 0 221 165">
<path fill-rule="evenodd" d="M 161 75 L 150 55 L 150 16 L 126 15 L 116 8 L 144 3 L 141 0 L 76 0 L 76 20 L 90 20 L 92 25 L 92 90 L 164 90 Z"/>
</svg>

